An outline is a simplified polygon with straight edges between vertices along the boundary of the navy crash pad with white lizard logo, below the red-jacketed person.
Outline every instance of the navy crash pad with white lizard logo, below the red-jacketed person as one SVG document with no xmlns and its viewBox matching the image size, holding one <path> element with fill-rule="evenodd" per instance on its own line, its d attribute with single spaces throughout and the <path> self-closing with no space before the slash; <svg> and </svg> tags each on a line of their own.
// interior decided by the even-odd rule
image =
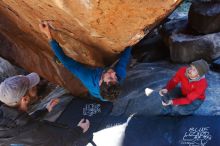
<svg viewBox="0 0 220 146">
<path fill-rule="evenodd" d="M 219 123 L 220 116 L 134 116 L 123 146 L 219 146 Z"/>
</svg>

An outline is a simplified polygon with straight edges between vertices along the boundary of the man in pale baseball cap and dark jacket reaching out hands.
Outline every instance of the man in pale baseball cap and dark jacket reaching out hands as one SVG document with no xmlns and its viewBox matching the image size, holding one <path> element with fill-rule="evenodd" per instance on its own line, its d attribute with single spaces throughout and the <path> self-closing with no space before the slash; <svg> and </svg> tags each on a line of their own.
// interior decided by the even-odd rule
<svg viewBox="0 0 220 146">
<path fill-rule="evenodd" d="M 89 129 L 87 119 L 81 119 L 74 128 L 40 120 L 38 116 L 50 112 L 59 102 L 57 100 L 29 115 L 29 103 L 36 95 L 39 81 L 38 74 L 31 73 L 7 78 L 0 84 L 0 101 L 3 102 L 0 106 L 0 145 L 73 145 Z"/>
</svg>

